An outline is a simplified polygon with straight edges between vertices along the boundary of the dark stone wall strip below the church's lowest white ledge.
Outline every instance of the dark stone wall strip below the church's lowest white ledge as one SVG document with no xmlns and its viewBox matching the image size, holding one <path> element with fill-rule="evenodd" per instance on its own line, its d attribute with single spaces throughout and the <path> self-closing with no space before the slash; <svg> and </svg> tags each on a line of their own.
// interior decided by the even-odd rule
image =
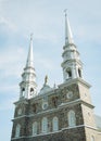
<svg viewBox="0 0 101 141">
<path fill-rule="evenodd" d="M 64 129 L 60 132 L 41 134 L 26 139 L 16 139 L 14 141 L 86 141 L 85 129 Z"/>
</svg>

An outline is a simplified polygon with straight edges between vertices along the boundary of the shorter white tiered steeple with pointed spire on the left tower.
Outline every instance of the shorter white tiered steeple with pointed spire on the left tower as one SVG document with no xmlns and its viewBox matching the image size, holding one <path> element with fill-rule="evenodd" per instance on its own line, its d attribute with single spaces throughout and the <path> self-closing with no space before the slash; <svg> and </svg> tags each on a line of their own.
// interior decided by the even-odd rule
<svg viewBox="0 0 101 141">
<path fill-rule="evenodd" d="M 34 55 L 33 55 L 33 35 L 30 35 L 30 44 L 27 56 L 26 66 L 22 74 L 22 82 L 20 84 L 21 94 L 20 99 L 30 99 L 37 95 L 36 73 L 34 68 Z"/>
</svg>

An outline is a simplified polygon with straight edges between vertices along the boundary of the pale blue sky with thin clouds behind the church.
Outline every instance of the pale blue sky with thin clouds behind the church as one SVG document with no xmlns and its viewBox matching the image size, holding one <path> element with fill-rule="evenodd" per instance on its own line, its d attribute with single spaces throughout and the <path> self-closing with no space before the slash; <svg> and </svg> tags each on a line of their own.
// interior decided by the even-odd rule
<svg viewBox="0 0 101 141">
<path fill-rule="evenodd" d="M 21 74 L 34 33 L 38 91 L 45 76 L 53 87 L 63 82 L 64 9 L 84 63 L 94 113 L 101 115 L 101 0 L 0 0 L 0 140 L 10 141 Z"/>
</svg>

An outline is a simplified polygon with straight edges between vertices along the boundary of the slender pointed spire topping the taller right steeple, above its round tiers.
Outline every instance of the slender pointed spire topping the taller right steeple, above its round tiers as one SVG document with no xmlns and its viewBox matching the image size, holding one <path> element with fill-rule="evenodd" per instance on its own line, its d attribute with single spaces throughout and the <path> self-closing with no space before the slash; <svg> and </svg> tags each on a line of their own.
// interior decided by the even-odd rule
<svg viewBox="0 0 101 141">
<path fill-rule="evenodd" d="M 65 44 L 71 44 L 71 43 L 74 43 L 73 34 L 71 30 L 70 21 L 68 21 L 68 16 L 66 14 L 66 10 L 64 12 L 65 12 Z"/>
</svg>

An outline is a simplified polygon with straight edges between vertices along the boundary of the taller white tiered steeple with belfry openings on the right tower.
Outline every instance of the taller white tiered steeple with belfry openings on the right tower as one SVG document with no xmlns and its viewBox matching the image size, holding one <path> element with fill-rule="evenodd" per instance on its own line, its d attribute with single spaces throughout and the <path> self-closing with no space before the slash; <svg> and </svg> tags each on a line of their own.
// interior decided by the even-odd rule
<svg viewBox="0 0 101 141">
<path fill-rule="evenodd" d="M 65 46 L 63 47 L 63 78 L 64 81 L 74 79 L 74 78 L 83 78 L 83 63 L 79 60 L 79 52 L 73 41 L 73 35 L 68 22 L 68 17 L 65 10 Z"/>
</svg>

